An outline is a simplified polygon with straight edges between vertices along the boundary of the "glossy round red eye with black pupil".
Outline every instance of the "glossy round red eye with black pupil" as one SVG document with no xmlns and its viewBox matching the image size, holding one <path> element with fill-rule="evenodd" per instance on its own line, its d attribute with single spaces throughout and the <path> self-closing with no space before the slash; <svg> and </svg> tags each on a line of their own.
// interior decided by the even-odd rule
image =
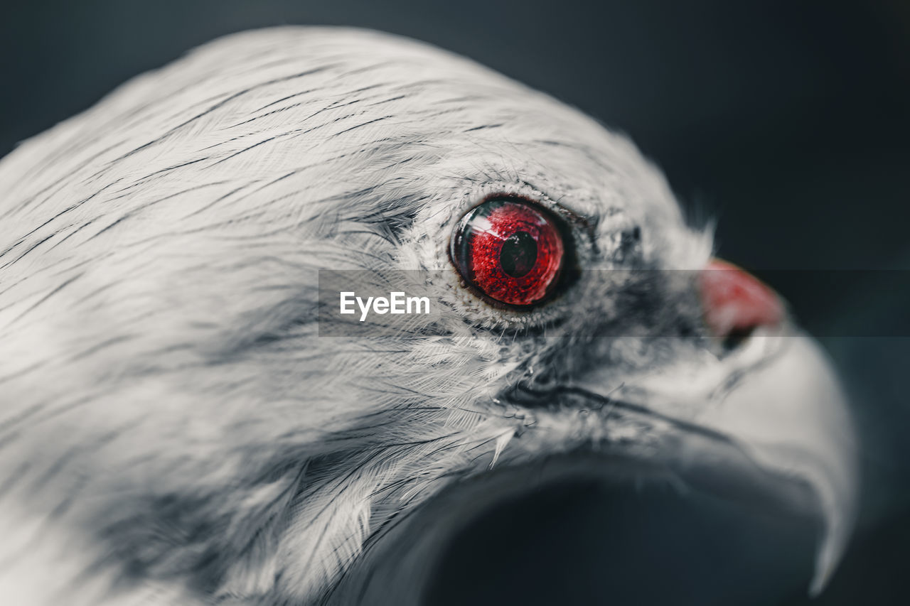
<svg viewBox="0 0 910 606">
<path fill-rule="evenodd" d="M 455 228 L 451 247 L 461 275 L 507 305 L 547 298 L 562 266 L 556 220 L 521 200 L 493 199 L 470 209 Z"/>
</svg>

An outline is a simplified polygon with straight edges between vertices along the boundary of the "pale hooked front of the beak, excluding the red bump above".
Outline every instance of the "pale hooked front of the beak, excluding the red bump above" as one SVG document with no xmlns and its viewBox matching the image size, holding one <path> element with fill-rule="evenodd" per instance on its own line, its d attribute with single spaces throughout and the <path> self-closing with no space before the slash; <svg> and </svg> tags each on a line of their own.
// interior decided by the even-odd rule
<svg viewBox="0 0 910 606">
<path fill-rule="evenodd" d="M 752 478 L 754 488 L 776 495 L 784 508 L 822 522 L 810 587 L 816 595 L 834 572 L 853 528 L 857 500 L 853 424 L 844 392 L 821 348 L 801 334 L 778 338 L 783 343 L 770 363 L 748 373 L 693 422 L 731 439 L 743 454 L 744 460 L 734 463 L 730 472 Z M 692 456 L 680 464 L 697 476 L 705 453 L 699 452 L 697 442 L 691 447 Z M 799 484 L 808 490 L 797 490 Z"/>
</svg>

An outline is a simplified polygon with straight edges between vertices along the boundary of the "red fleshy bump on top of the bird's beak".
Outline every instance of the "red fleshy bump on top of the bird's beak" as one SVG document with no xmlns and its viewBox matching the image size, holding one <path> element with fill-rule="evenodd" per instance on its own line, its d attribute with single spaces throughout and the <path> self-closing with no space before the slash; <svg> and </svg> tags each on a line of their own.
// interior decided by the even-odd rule
<svg viewBox="0 0 910 606">
<path fill-rule="evenodd" d="M 784 320 L 781 298 L 761 280 L 726 261 L 712 259 L 699 276 L 699 288 L 705 324 L 717 338 L 737 338 Z"/>
</svg>

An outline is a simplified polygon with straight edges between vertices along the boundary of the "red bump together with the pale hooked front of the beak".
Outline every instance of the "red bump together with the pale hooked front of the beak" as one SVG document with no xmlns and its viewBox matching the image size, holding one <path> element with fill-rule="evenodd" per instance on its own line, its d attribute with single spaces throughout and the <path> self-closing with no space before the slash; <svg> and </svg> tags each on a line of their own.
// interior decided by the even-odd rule
<svg viewBox="0 0 910 606">
<path fill-rule="evenodd" d="M 700 289 L 705 323 L 715 337 L 785 323 L 781 299 L 741 268 L 712 259 Z M 856 445 L 844 391 L 824 352 L 807 336 L 784 333 L 773 360 L 706 409 L 704 426 L 737 439 L 752 460 L 802 479 L 816 498 L 824 534 L 810 592 L 824 589 L 853 528 L 857 500 Z"/>
</svg>

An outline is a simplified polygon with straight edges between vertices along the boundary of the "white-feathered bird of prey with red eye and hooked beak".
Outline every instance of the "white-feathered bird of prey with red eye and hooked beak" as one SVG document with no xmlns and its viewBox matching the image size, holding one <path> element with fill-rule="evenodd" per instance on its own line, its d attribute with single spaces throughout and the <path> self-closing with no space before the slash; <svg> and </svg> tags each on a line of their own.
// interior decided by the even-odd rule
<svg viewBox="0 0 910 606">
<path fill-rule="evenodd" d="M 227 35 L 0 191 L 7 603 L 418 604 L 466 523 L 571 477 L 804 515 L 813 593 L 844 552 L 822 348 L 628 137 L 468 58 Z"/>
</svg>

